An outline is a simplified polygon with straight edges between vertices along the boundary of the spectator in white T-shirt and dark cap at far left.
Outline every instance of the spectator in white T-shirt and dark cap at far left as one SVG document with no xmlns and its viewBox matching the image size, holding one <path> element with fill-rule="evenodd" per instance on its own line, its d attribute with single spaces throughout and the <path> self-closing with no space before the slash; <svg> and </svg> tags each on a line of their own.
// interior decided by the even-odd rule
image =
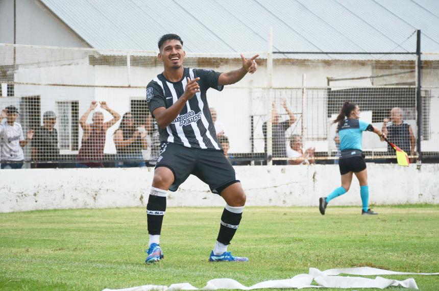
<svg viewBox="0 0 439 291">
<path fill-rule="evenodd" d="M 1 117 L 2 119 L 6 118 L 0 123 L 0 139 L 2 140 L 0 159 L 2 160 L 2 169 L 19 169 L 23 166 L 25 154 L 22 148 L 25 147 L 34 136 L 34 131 L 29 130 L 25 139 L 21 125 L 15 122 L 18 114 L 17 108 L 12 105 L 2 110 Z"/>
</svg>

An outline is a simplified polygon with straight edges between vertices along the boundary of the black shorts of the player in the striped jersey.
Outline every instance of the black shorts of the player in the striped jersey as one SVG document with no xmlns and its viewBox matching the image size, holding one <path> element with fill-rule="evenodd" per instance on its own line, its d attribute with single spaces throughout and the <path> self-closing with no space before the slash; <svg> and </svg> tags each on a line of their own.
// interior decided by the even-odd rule
<svg viewBox="0 0 439 291">
<path fill-rule="evenodd" d="M 193 149 L 172 142 L 162 144 L 156 168 L 167 167 L 174 173 L 169 187 L 177 191 L 190 174 L 208 184 L 213 193 L 220 194 L 229 185 L 239 182 L 235 169 L 222 151 Z"/>
</svg>

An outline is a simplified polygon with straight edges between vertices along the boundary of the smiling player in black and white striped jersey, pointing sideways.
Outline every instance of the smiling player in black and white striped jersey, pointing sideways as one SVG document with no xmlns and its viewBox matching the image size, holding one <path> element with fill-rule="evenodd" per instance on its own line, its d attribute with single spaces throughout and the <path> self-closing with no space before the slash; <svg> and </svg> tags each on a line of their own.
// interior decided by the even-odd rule
<svg viewBox="0 0 439 291">
<path fill-rule="evenodd" d="M 240 68 L 220 73 L 183 67 L 186 53 L 183 41 L 176 34 L 163 35 L 158 47 L 158 59 L 164 69 L 148 84 L 147 102 L 157 120 L 162 145 L 147 205 L 149 249 L 145 262 L 163 258 L 159 239 L 167 190 L 176 191 L 190 174 L 226 201 L 209 261 L 248 261 L 227 252 L 241 221 L 246 195 L 217 141 L 206 91 L 209 88 L 221 91 L 224 85 L 238 82 L 247 72 L 253 74 L 258 55 L 246 59 L 241 54 Z"/>
</svg>

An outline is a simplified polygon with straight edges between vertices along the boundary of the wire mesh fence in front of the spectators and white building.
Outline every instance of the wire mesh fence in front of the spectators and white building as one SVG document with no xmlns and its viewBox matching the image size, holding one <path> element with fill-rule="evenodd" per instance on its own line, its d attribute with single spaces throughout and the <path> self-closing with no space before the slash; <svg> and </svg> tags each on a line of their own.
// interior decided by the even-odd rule
<svg viewBox="0 0 439 291">
<path fill-rule="evenodd" d="M 413 160 L 419 136 L 423 157 L 439 157 L 439 54 L 422 56 L 421 122 L 415 54 L 259 54 L 255 74 L 207 93 L 233 164 L 336 162 L 331 120 L 345 101 L 359 105 L 365 122 L 393 132 Z M 187 54 L 184 65 L 225 72 L 241 60 Z M 160 138 L 145 90 L 162 70 L 157 52 L 1 44 L 2 164 L 154 165 Z M 373 133 L 363 134 L 362 147 L 369 159 L 393 161 Z"/>
</svg>

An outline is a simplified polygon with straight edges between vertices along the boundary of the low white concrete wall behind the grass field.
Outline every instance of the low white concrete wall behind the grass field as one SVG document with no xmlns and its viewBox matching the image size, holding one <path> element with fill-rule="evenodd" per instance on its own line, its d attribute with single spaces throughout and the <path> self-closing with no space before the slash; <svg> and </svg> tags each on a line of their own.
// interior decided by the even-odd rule
<svg viewBox="0 0 439 291">
<path fill-rule="evenodd" d="M 318 206 L 339 186 L 337 165 L 237 166 L 248 206 Z M 146 206 L 153 168 L 5 169 L 0 212 Z M 439 164 L 368 163 L 370 203 L 439 203 Z M 169 192 L 168 206 L 223 206 L 194 176 Z M 361 205 L 358 181 L 331 205 Z M 379 207 L 376 207 L 379 212 Z M 316 209 L 316 212 L 318 210 Z"/>
</svg>

